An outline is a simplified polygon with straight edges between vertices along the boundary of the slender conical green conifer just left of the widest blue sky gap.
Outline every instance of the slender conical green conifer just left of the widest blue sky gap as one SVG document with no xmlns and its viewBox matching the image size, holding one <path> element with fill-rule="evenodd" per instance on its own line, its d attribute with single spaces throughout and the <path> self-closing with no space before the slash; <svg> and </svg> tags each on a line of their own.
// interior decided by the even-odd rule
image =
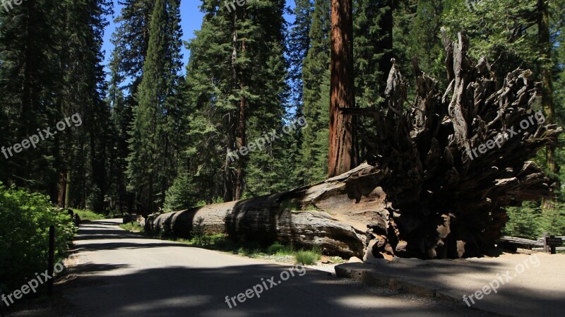
<svg viewBox="0 0 565 317">
<path fill-rule="evenodd" d="M 177 172 L 178 75 L 182 58 L 179 0 L 160 0 L 151 16 L 148 53 L 133 109 L 127 175 L 144 213 L 165 203 Z"/>
</svg>

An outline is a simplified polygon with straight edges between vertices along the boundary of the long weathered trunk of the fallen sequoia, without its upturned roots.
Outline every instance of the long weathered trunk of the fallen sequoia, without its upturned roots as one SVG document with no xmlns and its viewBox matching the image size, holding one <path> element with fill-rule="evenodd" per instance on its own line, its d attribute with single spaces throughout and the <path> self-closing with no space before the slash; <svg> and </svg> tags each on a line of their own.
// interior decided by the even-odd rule
<svg viewBox="0 0 565 317">
<path fill-rule="evenodd" d="M 331 256 L 362 257 L 367 223 L 383 221 L 386 195 L 379 170 L 363 164 L 338 177 L 285 193 L 150 215 L 145 229 L 165 237 L 192 237 L 198 218 L 208 234 L 223 233 L 263 246 L 280 241 Z M 390 207 L 390 203 L 388 203 Z M 384 225 L 384 223 L 383 223 Z"/>
</svg>

